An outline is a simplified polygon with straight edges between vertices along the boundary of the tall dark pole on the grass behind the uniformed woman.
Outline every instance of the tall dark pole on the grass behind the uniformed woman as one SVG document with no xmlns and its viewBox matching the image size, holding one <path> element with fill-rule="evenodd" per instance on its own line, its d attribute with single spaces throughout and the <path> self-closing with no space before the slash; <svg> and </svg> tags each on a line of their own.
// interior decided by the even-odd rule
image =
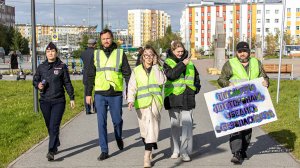
<svg viewBox="0 0 300 168">
<path fill-rule="evenodd" d="M 36 58 L 36 23 L 35 23 L 35 0 L 31 0 L 31 49 L 32 49 L 32 72 L 36 73 L 37 58 Z M 34 112 L 38 112 L 38 90 L 33 87 L 33 107 Z"/>
</svg>

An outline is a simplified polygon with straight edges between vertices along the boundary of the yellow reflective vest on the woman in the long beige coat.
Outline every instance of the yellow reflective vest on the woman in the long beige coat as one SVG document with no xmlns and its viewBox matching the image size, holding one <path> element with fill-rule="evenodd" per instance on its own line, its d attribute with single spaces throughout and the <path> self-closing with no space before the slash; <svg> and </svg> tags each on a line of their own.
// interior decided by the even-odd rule
<svg viewBox="0 0 300 168">
<path fill-rule="evenodd" d="M 137 93 L 134 106 L 136 109 L 147 108 L 153 103 L 153 99 L 158 102 L 158 107 L 162 107 L 162 88 L 158 85 L 154 71 L 151 69 L 147 74 L 143 65 L 134 68 L 137 84 Z"/>
</svg>

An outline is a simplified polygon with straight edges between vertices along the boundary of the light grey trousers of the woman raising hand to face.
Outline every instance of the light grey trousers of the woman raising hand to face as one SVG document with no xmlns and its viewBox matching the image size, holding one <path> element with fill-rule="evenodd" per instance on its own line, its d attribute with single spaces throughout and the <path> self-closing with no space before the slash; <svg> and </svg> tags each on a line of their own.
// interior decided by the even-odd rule
<svg viewBox="0 0 300 168">
<path fill-rule="evenodd" d="M 191 154 L 193 150 L 193 119 L 192 110 L 169 110 L 171 120 L 171 148 L 173 153 Z M 180 129 L 180 121 L 182 129 Z M 180 143 L 181 133 L 181 146 Z"/>
</svg>

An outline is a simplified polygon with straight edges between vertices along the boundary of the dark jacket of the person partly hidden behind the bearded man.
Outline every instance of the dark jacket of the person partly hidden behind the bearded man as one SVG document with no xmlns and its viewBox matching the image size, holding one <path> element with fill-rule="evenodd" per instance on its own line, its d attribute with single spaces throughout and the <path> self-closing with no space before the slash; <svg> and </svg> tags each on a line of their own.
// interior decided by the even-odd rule
<svg viewBox="0 0 300 168">
<path fill-rule="evenodd" d="M 83 78 L 82 82 L 84 85 L 87 85 L 87 68 L 91 66 L 91 60 L 94 59 L 94 48 L 89 47 L 85 51 L 81 53 L 80 56 L 82 62 L 83 62 Z"/>
</svg>

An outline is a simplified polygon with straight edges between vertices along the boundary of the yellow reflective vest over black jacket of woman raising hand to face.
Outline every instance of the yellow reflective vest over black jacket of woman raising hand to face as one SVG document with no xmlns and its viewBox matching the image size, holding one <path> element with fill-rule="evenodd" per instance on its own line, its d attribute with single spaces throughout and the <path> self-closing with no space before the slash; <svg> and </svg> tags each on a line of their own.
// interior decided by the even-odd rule
<svg viewBox="0 0 300 168">
<path fill-rule="evenodd" d="M 170 59 L 167 58 L 165 63 L 169 65 L 171 68 L 174 68 L 177 63 Z M 195 69 L 194 69 L 194 64 L 192 61 L 189 62 L 189 64 L 186 66 L 185 70 L 185 77 L 184 74 L 181 74 L 180 77 L 174 81 L 167 81 L 165 84 L 165 96 L 169 96 L 170 94 L 174 95 L 180 95 L 182 94 L 186 86 L 191 88 L 192 90 L 196 90 L 196 87 L 194 86 L 194 79 L 195 79 Z"/>
</svg>

